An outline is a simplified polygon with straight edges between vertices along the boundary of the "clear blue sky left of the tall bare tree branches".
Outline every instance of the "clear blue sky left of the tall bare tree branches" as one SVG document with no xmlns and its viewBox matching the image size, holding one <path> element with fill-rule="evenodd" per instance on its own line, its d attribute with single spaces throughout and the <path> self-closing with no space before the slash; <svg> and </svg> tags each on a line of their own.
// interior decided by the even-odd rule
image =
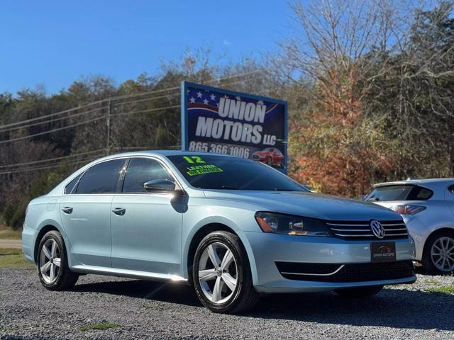
<svg viewBox="0 0 454 340">
<path fill-rule="evenodd" d="M 55 94 L 94 74 L 120 84 L 156 74 L 187 47 L 260 58 L 277 50 L 291 17 L 285 0 L 2 0 L 0 93 Z"/>
</svg>

